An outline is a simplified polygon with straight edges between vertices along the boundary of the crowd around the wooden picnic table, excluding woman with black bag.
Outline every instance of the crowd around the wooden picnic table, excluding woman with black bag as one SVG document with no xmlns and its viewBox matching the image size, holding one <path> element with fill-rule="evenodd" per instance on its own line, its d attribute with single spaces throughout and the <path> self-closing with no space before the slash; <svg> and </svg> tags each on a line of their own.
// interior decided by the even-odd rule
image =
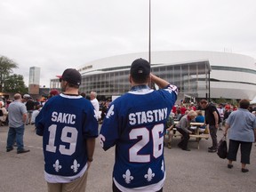
<svg viewBox="0 0 256 192">
<path fill-rule="evenodd" d="M 228 119 L 228 116 L 231 112 L 236 111 L 238 108 L 236 105 L 232 105 L 229 103 L 212 103 L 208 102 L 207 100 L 199 100 L 198 103 L 188 102 L 183 103 L 181 102 L 179 105 L 175 105 L 172 108 L 172 112 L 169 116 L 169 122 L 172 121 L 172 124 L 166 124 L 167 127 L 167 134 L 168 136 L 168 148 L 171 148 L 171 141 L 172 141 L 172 128 L 175 126 L 177 131 L 183 135 L 182 140 L 186 139 L 189 140 L 189 134 L 194 133 L 191 127 L 189 126 L 189 122 L 196 122 L 196 123 L 204 123 L 203 126 L 200 127 L 200 132 L 206 132 L 206 124 L 208 124 L 210 135 L 212 137 L 212 146 L 209 147 L 209 152 L 216 152 L 217 150 L 217 130 L 222 131 L 225 128 L 225 123 Z M 191 112 L 193 111 L 193 113 Z M 249 106 L 248 111 L 255 115 L 256 107 Z M 196 113 L 195 113 L 196 112 Z M 188 116 L 189 113 L 189 116 Z M 190 116 L 193 114 L 193 116 Z M 184 117 L 185 116 L 185 117 Z M 256 115 L 255 115 L 256 116 Z M 183 119 L 182 119 L 183 118 Z M 181 121 L 182 119 L 182 121 Z M 179 122 L 179 124 L 174 124 L 174 121 Z M 185 143 L 187 142 L 185 140 Z M 183 141 L 182 141 L 183 142 Z M 181 143 L 182 143 L 181 142 Z M 178 145 L 181 147 L 182 145 Z M 188 147 L 188 146 L 187 146 Z M 189 148 L 182 148 L 184 150 L 188 150 Z"/>
</svg>

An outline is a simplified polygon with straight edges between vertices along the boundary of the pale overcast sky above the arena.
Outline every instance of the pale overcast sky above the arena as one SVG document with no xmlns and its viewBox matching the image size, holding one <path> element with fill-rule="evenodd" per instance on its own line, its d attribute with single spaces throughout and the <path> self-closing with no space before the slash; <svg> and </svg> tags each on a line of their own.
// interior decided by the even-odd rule
<svg viewBox="0 0 256 192">
<path fill-rule="evenodd" d="M 40 86 L 66 68 L 148 52 L 150 0 L 0 0 L 0 56 L 13 73 L 41 68 Z M 255 0 L 151 0 L 151 51 L 233 52 L 256 59 Z M 136 58 L 134 58 L 135 60 Z"/>
</svg>

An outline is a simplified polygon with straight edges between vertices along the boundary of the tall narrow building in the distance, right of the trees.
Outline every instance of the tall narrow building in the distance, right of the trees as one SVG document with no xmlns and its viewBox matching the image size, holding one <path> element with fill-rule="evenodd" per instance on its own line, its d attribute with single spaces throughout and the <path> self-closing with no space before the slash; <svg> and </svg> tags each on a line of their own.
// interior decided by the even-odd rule
<svg viewBox="0 0 256 192">
<path fill-rule="evenodd" d="M 28 79 L 28 93 L 39 94 L 40 84 L 40 68 L 31 67 L 29 68 L 29 79 Z"/>
</svg>

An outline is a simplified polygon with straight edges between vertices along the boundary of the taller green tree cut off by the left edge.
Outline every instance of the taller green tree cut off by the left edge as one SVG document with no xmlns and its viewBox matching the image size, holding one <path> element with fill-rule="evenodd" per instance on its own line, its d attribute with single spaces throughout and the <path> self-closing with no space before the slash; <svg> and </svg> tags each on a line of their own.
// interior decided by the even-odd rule
<svg viewBox="0 0 256 192">
<path fill-rule="evenodd" d="M 12 74 L 12 68 L 18 68 L 18 64 L 7 57 L 0 57 L 0 92 L 4 90 L 5 80 Z"/>
</svg>

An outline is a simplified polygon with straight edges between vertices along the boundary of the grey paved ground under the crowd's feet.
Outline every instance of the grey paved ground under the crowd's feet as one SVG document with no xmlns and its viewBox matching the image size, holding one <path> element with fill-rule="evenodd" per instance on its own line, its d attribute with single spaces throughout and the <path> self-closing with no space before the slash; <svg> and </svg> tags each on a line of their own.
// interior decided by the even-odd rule
<svg viewBox="0 0 256 192">
<path fill-rule="evenodd" d="M 7 126 L 0 127 L 0 191 L 1 192 L 44 192 L 44 158 L 42 138 L 36 136 L 34 127 L 26 127 L 24 143 L 31 151 L 16 154 L 13 150 L 5 152 Z M 222 132 L 218 132 L 219 136 Z M 219 137 L 220 139 L 220 137 Z M 250 172 L 241 172 L 240 154 L 233 169 L 227 168 L 227 160 L 207 152 L 211 139 L 201 140 L 200 149 L 196 142 L 189 141 L 190 152 L 177 148 L 180 139 L 174 139 L 172 149 L 164 148 L 166 162 L 166 181 L 164 191 L 210 191 L 210 192 L 251 192 L 256 187 L 256 147 L 253 144 Z M 88 177 L 88 192 L 110 192 L 114 148 L 104 152 L 99 140 Z"/>
</svg>

